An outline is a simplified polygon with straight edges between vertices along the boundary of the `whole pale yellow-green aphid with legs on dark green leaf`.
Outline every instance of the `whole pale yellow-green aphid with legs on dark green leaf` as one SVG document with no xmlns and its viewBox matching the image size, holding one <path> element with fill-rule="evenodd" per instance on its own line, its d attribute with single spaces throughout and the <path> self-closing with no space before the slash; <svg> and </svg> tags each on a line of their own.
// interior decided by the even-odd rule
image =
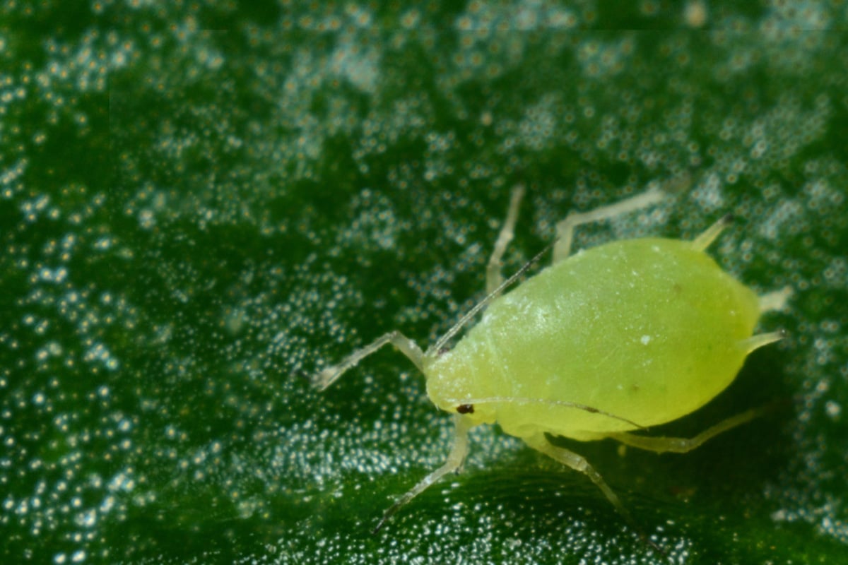
<svg viewBox="0 0 848 565">
<path fill-rule="evenodd" d="M 694 241 L 613 241 L 569 256 L 577 225 L 649 206 L 662 193 L 653 189 L 588 213 L 570 213 L 556 226 L 554 263 L 501 295 L 530 265 L 509 280 L 500 274 L 522 194 L 522 187 L 513 192 L 489 260 L 488 296 L 427 352 L 393 331 L 315 375 L 323 390 L 391 343 L 421 369 L 432 402 L 454 414 L 447 462 L 401 496 L 377 529 L 414 496 L 460 469 L 468 430 L 477 424 L 496 422 L 507 434 L 587 474 L 629 519 L 589 462 L 552 445 L 546 435 L 613 438 L 650 451 L 684 452 L 762 413 L 738 414 L 691 439 L 631 433 L 703 406 L 730 384 L 750 352 L 784 336 L 753 332 L 761 313 L 784 307 L 789 289 L 756 296 L 705 253 L 729 216 Z M 482 319 L 449 349 L 449 341 L 484 308 Z"/>
</svg>

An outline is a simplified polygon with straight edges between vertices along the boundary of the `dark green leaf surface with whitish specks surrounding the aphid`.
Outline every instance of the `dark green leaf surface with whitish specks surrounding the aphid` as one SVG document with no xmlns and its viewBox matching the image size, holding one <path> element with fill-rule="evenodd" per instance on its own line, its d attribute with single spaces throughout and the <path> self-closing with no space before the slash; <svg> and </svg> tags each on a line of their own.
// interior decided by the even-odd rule
<svg viewBox="0 0 848 565">
<path fill-rule="evenodd" d="M 587 479 L 450 424 L 388 349 L 579 230 L 692 237 L 789 339 L 657 433 L 782 408 L 687 455 L 589 458 L 674 563 L 848 559 L 848 5 L 0 4 L 0 561 L 656 563 Z M 679 180 L 689 180 L 681 183 Z"/>
</svg>

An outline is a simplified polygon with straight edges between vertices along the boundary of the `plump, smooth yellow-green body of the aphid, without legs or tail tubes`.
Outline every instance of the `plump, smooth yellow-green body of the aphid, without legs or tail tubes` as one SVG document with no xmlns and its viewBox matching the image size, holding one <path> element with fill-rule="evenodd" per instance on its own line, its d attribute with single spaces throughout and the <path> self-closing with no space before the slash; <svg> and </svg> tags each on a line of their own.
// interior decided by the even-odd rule
<svg viewBox="0 0 848 565">
<path fill-rule="evenodd" d="M 739 343 L 758 317 L 756 295 L 690 241 L 615 241 L 492 302 L 444 363 L 433 363 L 428 391 L 444 409 L 438 399 L 463 394 L 510 399 L 485 419 L 519 437 L 594 439 L 634 427 L 555 402 L 662 424 L 734 379 L 746 354 Z"/>
</svg>

